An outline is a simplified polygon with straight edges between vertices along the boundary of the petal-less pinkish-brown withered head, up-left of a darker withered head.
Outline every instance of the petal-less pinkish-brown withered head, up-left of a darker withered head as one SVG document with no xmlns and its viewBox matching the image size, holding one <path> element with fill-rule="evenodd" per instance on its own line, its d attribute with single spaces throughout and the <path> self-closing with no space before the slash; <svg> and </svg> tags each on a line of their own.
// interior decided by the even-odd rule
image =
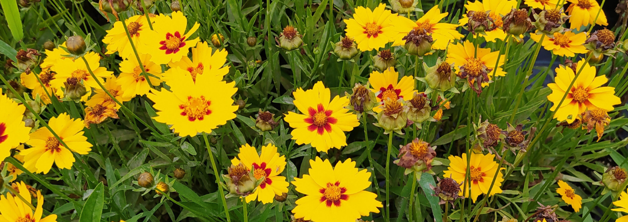
<svg viewBox="0 0 628 222">
<path fill-rule="evenodd" d="M 436 146 L 430 147 L 428 142 L 415 138 L 409 144 L 399 145 L 399 159 L 394 161 L 397 166 L 406 168 L 404 174 L 414 172 L 416 179 L 421 178 L 423 172 L 431 172 L 431 162 L 436 157 Z"/>
</svg>

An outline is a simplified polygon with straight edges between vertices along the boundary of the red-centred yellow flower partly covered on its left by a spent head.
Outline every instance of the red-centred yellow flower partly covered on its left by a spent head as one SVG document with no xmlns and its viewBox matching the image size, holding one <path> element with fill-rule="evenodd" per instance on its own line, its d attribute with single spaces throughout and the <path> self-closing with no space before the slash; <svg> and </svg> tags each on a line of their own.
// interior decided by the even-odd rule
<svg viewBox="0 0 628 222">
<path fill-rule="evenodd" d="M 261 155 L 257 155 L 255 147 L 249 144 L 240 147 L 240 153 L 231 160 L 231 164 L 238 164 L 251 168 L 256 179 L 264 180 L 257 186 L 255 193 L 246 196 L 246 202 L 254 201 L 256 198 L 261 203 L 273 203 L 274 196 L 288 193 L 288 182 L 286 177 L 279 176 L 286 168 L 286 157 L 279 156 L 277 147 L 273 144 L 264 145 Z"/>
</svg>

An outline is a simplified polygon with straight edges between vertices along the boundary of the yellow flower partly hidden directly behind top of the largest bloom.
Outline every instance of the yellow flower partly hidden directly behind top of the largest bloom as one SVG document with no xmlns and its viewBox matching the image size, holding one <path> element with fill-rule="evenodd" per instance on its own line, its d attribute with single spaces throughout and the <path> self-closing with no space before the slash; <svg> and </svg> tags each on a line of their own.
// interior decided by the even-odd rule
<svg viewBox="0 0 628 222">
<path fill-rule="evenodd" d="M 187 75 L 196 81 L 198 75 L 224 77 L 229 73 L 229 66 L 224 66 L 225 62 L 227 62 L 227 50 L 215 50 L 212 55 L 212 48 L 207 45 L 207 42 L 199 41 L 196 48 L 192 48 L 192 60 L 183 56 L 181 61 L 169 65 L 187 71 Z M 183 78 L 168 71 L 164 73 L 164 77 L 166 82 L 170 81 L 171 78 Z"/>
</svg>

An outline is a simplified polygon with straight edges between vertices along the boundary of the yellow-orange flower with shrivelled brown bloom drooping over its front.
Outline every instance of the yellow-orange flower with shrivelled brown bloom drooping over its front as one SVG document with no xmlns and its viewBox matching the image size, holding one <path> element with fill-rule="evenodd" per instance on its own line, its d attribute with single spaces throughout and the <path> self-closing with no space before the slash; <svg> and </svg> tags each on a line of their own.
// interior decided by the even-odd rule
<svg viewBox="0 0 628 222">
<path fill-rule="evenodd" d="M 489 84 L 494 72 L 497 77 L 506 75 L 506 72 L 500 67 L 504 65 L 504 56 L 499 58 L 498 63 L 498 55 L 499 51 L 490 52 L 489 48 L 478 48 L 476 56 L 473 43 L 465 41 L 464 43 L 450 45 L 447 51 L 447 60 L 445 61 L 453 63 L 458 77 L 466 78 L 468 86 L 480 95 L 482 87 Z M 495 63 L 497 63 L 497 66 L 495 66 Z"/>
</svg>

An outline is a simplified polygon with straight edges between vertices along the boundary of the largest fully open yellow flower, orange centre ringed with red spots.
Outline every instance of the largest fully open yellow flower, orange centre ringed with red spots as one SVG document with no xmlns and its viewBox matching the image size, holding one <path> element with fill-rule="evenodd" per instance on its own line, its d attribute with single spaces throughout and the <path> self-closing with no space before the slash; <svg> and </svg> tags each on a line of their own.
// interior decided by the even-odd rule
<svg viewBox="0 0 628 222">
<path fill-rule="evenodd" d="M 195 83 L 192 78 L 178 78 L 168 83 L 171 92 L 163 88 L 161 91 L 151 90 L 148 98 L 159 110 L 153 119 L 172 125 L 170 129 L 181 137 L 211 133 L 218 125 L 236 118 L 234 112 L 238 108 L 231 98 L 237 92 L 236 83 L 221 82 L 220 79 L 222 77 L 203 76 Z"/>
</svg>

